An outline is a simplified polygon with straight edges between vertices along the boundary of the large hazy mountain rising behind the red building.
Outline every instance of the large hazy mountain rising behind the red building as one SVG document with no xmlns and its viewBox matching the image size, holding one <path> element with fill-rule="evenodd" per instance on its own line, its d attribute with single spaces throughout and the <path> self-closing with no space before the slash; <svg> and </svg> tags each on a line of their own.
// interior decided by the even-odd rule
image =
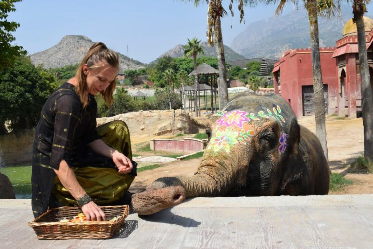
<svg viewBox="0 0 373 249">
<path fill-rule="evenodd" d="M 352 18 L 352 7 L 342 4 L 341 10 L 341 18 L 319 18 L 320 47 L 333 47 L 342 38 L 344 23 Z M 288 49 L 310 46 L 308 15 L 301 6 L 286 15 L 248 24 L 231 44 L 233 50 L 247 58 L 279 58 Z"/>
</svg>

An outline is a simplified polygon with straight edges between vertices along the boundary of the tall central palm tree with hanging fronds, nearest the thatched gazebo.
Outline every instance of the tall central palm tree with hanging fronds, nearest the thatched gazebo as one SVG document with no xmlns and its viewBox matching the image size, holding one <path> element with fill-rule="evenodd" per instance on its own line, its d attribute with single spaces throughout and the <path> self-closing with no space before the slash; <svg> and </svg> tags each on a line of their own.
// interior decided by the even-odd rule
<svg viewBox="0 0 373 249">
<path fill-rule="evenodd" d="M 194 6 L 198 6 L 203 0 L 181 0 L 182 2 L 194 2 Z M 209 45 L 215 44 L 217 61 L 219 66 L 219 106 L 224 107 L 228 103 L 228 88 L 227 88 L 227 70 L 225 65 L 224 44 L 222 36 L 222 28 L 220 18 L 227 15 L 226 10 L 222 6 L 222 0 L 204 0 L 208 5 L 207 11 L 207 42 Z M 238 2 L 238 11 L 240 14 L 240 23 L 244 19 L 244 6 L 256 5 L 256 0 L 235 0 Z M 233 16 L 232 10 L 233 0 L 229 0 L 229 10 Z"/>
</svg>

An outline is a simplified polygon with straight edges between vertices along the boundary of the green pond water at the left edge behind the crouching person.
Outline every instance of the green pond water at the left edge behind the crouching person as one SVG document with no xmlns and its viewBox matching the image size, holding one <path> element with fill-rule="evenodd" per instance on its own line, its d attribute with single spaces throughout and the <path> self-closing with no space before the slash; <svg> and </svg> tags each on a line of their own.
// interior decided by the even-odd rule
<svg viewBox="0 0 373 249">
<path fill-rule="evenodd" d="M 12 183 L 16 199 L 31 198 L 31 165 L 0 167 L 0 172 Z"/>
</svg>

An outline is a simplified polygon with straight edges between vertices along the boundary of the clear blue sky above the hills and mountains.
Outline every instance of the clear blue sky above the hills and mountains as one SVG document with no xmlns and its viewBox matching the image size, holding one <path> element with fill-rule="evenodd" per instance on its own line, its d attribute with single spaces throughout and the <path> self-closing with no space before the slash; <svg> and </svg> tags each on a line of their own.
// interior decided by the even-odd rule
<svg viewBox="0 0 373 249">
<path fill-rule="evenodd" d="M 228 10 L 229 1 L 223 0 L 223 4 Z M 187 38 L 206 41 L 205 1 L 197 8 L 193 3 L 176 0 L 23 0 L 15 7 L 16 12 L 10 13 L 9 20 L 21 26 L 13 35 L 16 44 L 29 54 L 52 47 L 64 35 L 85 35 L 125 55 L 128 45 L 129 57 L 149 63 L 175 45 L 185 44 Z M 267 19 L 275 9 L 275 6 L 245 7 L 245 21 Z M 237 4 L 234 10 L 233 18 L 222 19 L 226 45 L 245 29 L 245 24 L 239 23 Z M 291 4 L 283 14 L 289 11 Z M 368 11 L 372 13 L 373 7 L 369 6 Z"/>
</svg>

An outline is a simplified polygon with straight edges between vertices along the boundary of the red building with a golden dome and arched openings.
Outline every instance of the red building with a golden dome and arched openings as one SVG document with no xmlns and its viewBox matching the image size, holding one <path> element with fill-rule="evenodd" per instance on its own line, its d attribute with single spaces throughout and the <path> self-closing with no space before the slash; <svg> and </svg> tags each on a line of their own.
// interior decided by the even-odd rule
<svg viewBox="0 0 373 249">
<path fill-rule="evenodd" d="M 373 75 L 373 19 L 364 16 L 369 71 Z M 327 114 L 355 118 L 361 110 L 360 69 L 357 28 L 350 19 L 336 47 L 320 48 L 320 62 Z M 311 50 L 301 48 L 286 51 L 275 63 L 275 92 L 288 101 L 297 117 L 314 114 Z M 373 84 L 372 77 L 370 78 Z"/>
</svg>

